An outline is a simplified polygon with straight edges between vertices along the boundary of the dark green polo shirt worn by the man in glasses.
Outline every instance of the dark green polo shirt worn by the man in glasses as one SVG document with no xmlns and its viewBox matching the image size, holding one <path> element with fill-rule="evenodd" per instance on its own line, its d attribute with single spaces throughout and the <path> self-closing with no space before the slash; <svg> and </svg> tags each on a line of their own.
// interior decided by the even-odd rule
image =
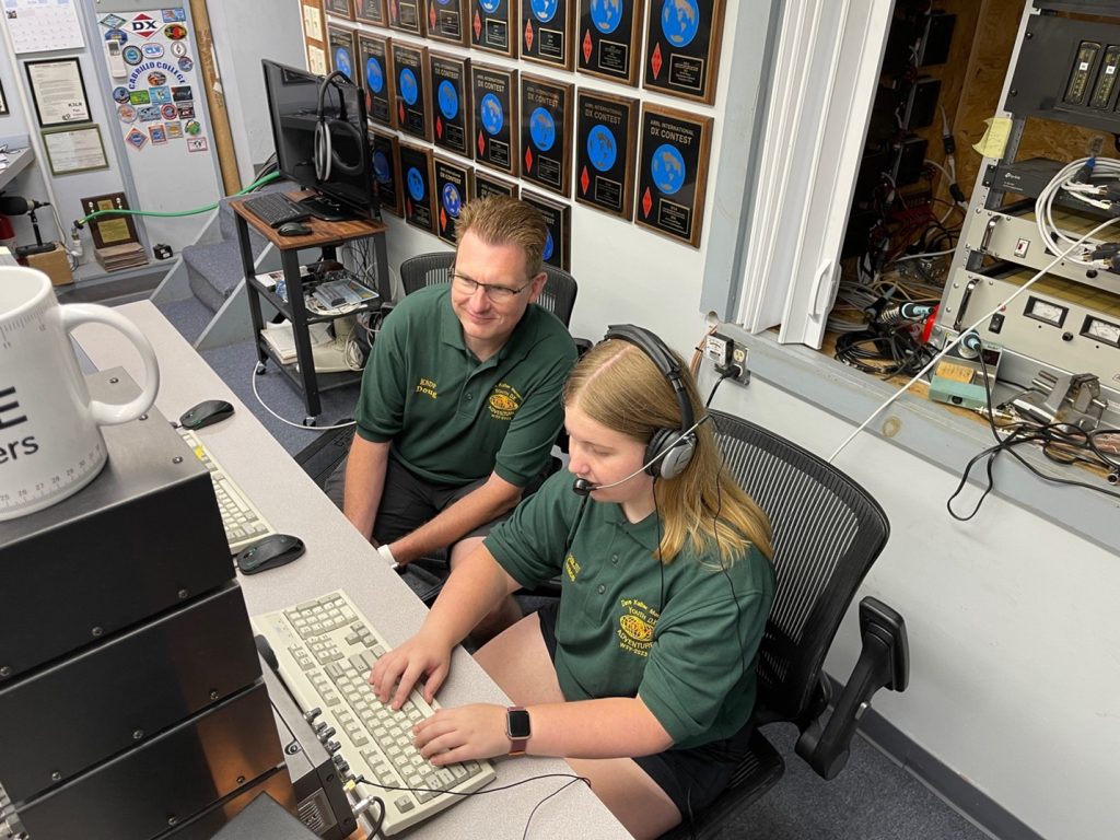
<svg viewBox="0 0 1120 840">
<path fill-rule="evenodd" d="M 461 486 L 496 472 L 523 487 L 563 424 L 560 394 L 575 361 L 563 324 L 530 304 L 502 349 L 479 362 L 463 343 L 450 286 L 421 289 L 373 343 L 357 433 L 391 440 L 391 456 L 424 480 Z"/>
</svg>

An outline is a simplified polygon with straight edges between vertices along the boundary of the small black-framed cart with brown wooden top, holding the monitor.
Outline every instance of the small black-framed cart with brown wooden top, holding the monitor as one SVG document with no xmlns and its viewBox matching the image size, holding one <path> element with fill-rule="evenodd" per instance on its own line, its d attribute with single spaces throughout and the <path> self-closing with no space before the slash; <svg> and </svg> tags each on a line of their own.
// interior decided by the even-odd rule
<svg viewBox="0 0 1120 840">
<path fill-rule="evenodd" d="M 308 193 L 290 193 L 290 198 L 298 200 Z M 262 364 L 271 357 L 280 370 L 302 392 L 307 405 L 305 426 L 314 426 L 315 418 L 323 407 L 319 402 L 319 391 L 332 388 L 343 388 L 362 379 L 361 372 L 319 374 L 315 370 L 311 356 L 311 340 L 308 336 L 308 323 L 333 320 L 325 317 L 310 317 L 304 305 L 304 284 L 299 276 L 299 252 L 306 248 L 321 248 L 327 259 L 336 259 L 335 249 L 352 240 L 371 237 L 374 246 L 375 270 L 377 274 L 377 292 L 381 300 L 388 301 L 391 296 L 389 286 L 389 255 L 385 248 L 385 225 L 381 222 L 324 222 L 311 218 L 306 224 L 311 233 L 305 236 L 281 236 L 274 228 L 262 222 L 245 208 L 246 198 L 230 203 L 237 225 L 237 245 L 241 251 L 241 268 L 245 276 L 245 292 L 249 295 L 249 315 L 253 321 L 253 339 L 256 342 L 256 357 Z M 288 299 L 282 300 L 273 290 L 267 289 L 256 280 L 253 250 L 249 240 L 249 225 L 267 239 L 280 253 L 280 268 L 283 271 L 288 288 Z M 269 345 L 261 338 L 264 321 L 261 318 L 261 298 L 291 321 L 292 335 L 296 339 L 296 364 L 283 364 L 273 356 Z M 297 371 L 296 367 L 299 367 Z"/>
</svg>

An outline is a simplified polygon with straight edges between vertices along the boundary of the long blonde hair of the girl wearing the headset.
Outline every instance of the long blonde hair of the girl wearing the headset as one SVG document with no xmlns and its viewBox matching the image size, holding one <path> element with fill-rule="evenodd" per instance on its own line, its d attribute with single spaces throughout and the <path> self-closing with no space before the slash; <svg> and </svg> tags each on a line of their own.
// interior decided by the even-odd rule
<svg viewBox="0 0 1120 840">
<path fill-rule="evenodd" d="M 681 377 L 693 417 L 704 414 L 696 382 L 684 362 Z M 576 365 L 563 392 L 564 405 L 579 403 L 591 420 L 648 445 L 659 429 L 681 428 L 681 407 L 673 388 L 644 351 L 623 339 L 592 347 Z M 766 514 L 722 468 L 724 457 L 710 422 L 700 423 L 696 451 L 684 472 L 654 485 L 664 525 L 660 557 L 671 562 L 688 542 L 700 554 L 715 547 L 725 567 L 755 545 L 773 556 Z"/>
</svg>

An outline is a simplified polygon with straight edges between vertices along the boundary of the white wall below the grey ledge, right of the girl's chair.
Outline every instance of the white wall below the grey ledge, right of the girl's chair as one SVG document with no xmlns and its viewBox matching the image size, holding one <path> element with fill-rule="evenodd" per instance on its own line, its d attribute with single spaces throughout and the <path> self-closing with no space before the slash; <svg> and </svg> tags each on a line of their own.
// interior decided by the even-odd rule
<svg viewBox="0 0 1120 840">
<path fill-rule="evenodd" d="M 725 383 L 715 405 L 825 458 L 852 428 L 757 377 Z M 1120 837 L 1117 553 L 995 495 L 955 522 L 956 474 L 876 437 L 856 438 L 837 466 L 892 525 L 856 601 L 886 601 L 909 635 L 909 688 L 879 692 L 875 708 L 1043 837 Z M 858 654 L 851 612 L 825 668 L 846 680 Z"/>
</svg>

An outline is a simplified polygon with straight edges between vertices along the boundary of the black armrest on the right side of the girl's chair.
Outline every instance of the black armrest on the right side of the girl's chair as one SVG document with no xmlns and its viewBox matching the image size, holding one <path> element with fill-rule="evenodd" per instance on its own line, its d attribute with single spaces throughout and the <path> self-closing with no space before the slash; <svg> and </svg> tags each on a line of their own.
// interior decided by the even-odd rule
<svg viewBox="0 0 1120 840">
<path fill-rule="evenodd" d="M 822 727 L 816 718 L 797 738 L 797 755 L 823 778 L 834 778 L 848 763 L 851 738 L 871 696 L 880 688 L 905 691 L 909 681 L 909 645 L 903 617 L 883 601 L 867 597 L 859 603 L 859 629 L 864 646 L 828 725 Z"/>
</svg>

